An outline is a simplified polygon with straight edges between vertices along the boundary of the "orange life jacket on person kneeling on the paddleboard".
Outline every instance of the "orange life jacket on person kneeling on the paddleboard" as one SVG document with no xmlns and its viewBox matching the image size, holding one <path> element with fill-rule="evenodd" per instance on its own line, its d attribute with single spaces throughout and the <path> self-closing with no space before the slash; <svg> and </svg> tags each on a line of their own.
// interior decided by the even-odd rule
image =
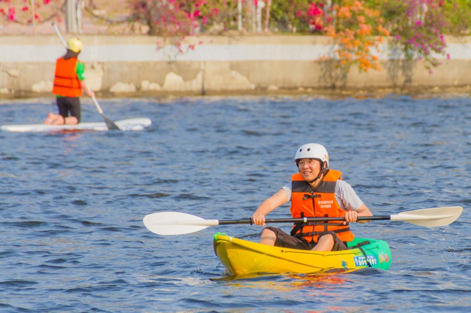
<svg viewBox="0 0 471 313">
<path fill-rule="evenodd" d="M 82 95 L 80 81 L 75 73 L 77 58 L 65 60 L 59 58 L 56 62 L 53 93 L 65 97 L 79 97 Z"/>
</svg>

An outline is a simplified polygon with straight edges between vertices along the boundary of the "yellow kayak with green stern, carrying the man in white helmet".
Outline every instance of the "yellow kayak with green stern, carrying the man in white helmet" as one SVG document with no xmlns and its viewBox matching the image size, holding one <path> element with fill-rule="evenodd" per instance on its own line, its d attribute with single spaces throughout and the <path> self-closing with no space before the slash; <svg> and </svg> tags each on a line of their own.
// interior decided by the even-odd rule
<svg viewBox="0 0 471 313">
<path fill-rule="evenodd" d="M 355 238 L 349 247 L 364 241 L 361 248 L 372 268 L 388 269 L 391 251 L 383 240 Z M 353 271 L 367 268 L 359 248 L 343 251 L 309 251 L 262 245 L 217 233 L 213 238 L 214 252 L 224 267 L 235 276 L 254 273 L 317 273 Z"/>
</svg>

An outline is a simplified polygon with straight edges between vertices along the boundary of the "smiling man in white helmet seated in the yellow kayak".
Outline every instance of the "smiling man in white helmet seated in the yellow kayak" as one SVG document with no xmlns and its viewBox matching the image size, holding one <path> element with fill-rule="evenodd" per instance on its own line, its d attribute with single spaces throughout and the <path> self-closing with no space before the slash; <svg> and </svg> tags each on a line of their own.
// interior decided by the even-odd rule
<svg viewBox="0 0 471 313">
<path fill-rule="evenodd" d="M 339 251 L 353 240 L 349 223 L 358 216 L 372 216 L 342 173 L 331 170 L 326 148 L 318 143 L 299 147 L 294 157 L 299 173 L 290 184 L 262 202 L 252 215 L 252 222 L 265 226 L 265 216 L 291 200 L 293 218 L 344 217 L 340 223 L 314 222 L 294 224 L 290 234 L 276 227 L 262 230 L 260 243 L 302 250 Z M 361 223 L 361 222 L 360 222 Z"/>
</svg>

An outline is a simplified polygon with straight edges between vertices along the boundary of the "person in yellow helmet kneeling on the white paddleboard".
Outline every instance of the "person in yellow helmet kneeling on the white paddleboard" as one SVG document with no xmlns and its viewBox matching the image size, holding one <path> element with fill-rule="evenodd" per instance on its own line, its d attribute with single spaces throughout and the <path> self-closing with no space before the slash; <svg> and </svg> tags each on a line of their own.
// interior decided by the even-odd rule
<svg viewBox="0 0 471 313">
<path fill-rule="evenodd" d="M 83 44 L 78 38 L 70 38 L 67 52 L 56 61 L 53 93 L 59 114 L 49 113 L 44 124 L 62 125 L 80 123 L 80 96 L 82 89 L 90 96 L 95 96 L 85 85 L 85 66 L 78 60 Z M 69 116 L 70 114 L 70 116 Z"/>
</svg>

